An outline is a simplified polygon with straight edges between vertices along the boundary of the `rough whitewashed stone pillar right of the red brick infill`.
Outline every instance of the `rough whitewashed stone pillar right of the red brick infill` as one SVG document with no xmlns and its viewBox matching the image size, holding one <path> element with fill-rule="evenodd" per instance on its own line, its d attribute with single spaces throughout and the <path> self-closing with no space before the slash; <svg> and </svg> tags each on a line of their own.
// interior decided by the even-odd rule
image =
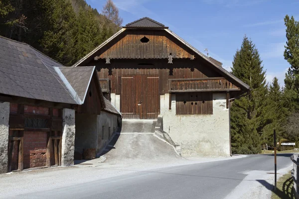
<svg viewBox="0 0 299 199">
<path fill-rule="evenodd" d="M 75 151 L 75 110 L 64 108 L 62 119 L 61 166 L 72 166 Z"/>
</svg>

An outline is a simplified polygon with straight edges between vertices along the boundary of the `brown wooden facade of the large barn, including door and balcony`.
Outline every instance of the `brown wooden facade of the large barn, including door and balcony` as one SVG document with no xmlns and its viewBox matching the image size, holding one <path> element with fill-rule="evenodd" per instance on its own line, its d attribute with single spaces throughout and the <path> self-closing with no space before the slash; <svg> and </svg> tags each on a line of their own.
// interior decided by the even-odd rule
<svg viewBox="0 0 299 199">
<path fill-rule="evenodd" d="M 124 118 L 156 118 L 159 95 L 168 93 L 177 94 L 177 114 L 212 114 L 213 92 L 227 98 L 243 92 L 238 81 L 163 29 L 127 29 L 77 66 L 96 66 L 102 90 L 121 95 Z M 183 99 L 196 107 L 181 105 Z"/>
</svg>

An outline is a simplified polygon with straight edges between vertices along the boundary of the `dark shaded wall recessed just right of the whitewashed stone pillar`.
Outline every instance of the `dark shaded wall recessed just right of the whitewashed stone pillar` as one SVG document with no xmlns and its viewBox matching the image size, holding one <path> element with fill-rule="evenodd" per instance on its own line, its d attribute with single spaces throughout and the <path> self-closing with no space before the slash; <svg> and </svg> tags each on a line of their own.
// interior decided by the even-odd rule
<svg viewBox="0 0 299 199">
<path fill-rule="evenodd" d="M 97 115 L 76 114 L 75 151 L 97 148 Z"/>
</svg>

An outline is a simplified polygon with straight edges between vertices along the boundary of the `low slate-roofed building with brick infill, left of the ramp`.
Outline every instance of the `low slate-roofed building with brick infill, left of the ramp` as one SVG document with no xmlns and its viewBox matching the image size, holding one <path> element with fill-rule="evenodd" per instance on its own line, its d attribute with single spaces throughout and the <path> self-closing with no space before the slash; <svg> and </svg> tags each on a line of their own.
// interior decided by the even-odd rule
<svg viewBox="0 0 299 199">
<path fill-rule="evenodd" d="M 98 156 L 121 124 L 98 79 L 0 37 L 0 173 Z"/>
</svg>

